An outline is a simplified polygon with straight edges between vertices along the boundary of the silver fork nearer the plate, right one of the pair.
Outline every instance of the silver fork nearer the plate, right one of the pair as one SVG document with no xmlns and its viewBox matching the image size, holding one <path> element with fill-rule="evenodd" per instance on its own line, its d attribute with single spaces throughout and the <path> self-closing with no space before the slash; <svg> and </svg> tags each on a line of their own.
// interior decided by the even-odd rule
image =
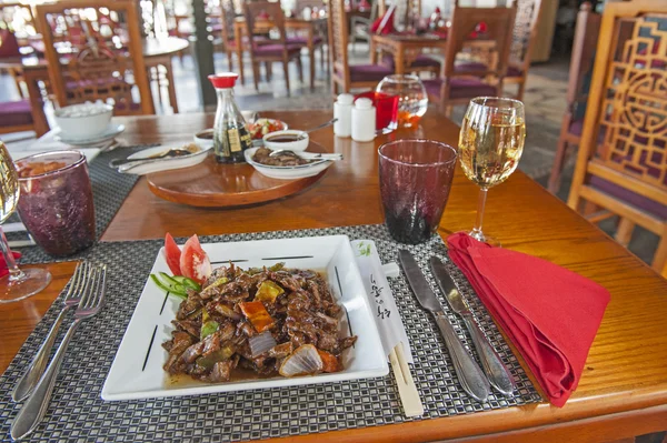
<svg viewBox="0 0 667 443">
<path fill-rule="evenodd" d="M 30 395 L 30 399 L 28 399 L 26 404 L 23 404 L 23 407 L 21 407 L 11 424 L 10 433 L 13 440 L 22 439 L 31 433 L 44 417 L 68 344 L 79 324 L 81 324 L 83 320 L 90 319 L 100 312 L 104 300 L 106 284 L 107 265 L 91 266 L 89 278 L 86 281 L 83 296 L 74 312 L 73 323 L 67 331 L 64 339 L 62 339 L 62 343 L 60 343 L 58 351 L 56 351 L 56 355 L 49 364 L 47 372 L 39 379 L 34 392 Z"/>
</svg>

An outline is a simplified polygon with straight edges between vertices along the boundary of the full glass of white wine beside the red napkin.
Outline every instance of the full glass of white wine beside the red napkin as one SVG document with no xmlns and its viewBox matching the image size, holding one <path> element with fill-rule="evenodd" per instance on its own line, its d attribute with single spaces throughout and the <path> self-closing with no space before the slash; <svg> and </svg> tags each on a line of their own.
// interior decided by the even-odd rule
<svg viewBox="0 0 667 443">
<path fill-rule="evenodd" d="M 481 232 L 484 207 L 489 188 L 502 183 L 517 169 L 526 122 L 524 103 L 498 97 L 470 100 L 459 135 L 459 158 L 466 177 L 480 188 L 477 221 L 470 236 L 500 245 Z"/>
</svg>

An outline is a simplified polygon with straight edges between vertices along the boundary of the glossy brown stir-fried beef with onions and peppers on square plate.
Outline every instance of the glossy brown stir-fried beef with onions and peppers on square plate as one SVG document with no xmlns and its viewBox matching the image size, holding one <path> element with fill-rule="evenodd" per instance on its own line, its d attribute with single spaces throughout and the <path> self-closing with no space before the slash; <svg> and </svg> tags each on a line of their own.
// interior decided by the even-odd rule
<svg viewBox="0 0 667 443">
<path fill-rule="evenodd" d="M 165 371 L 206 382 L 228 381 L 237 368 L 261 376 L 341 371 L 341 353 L 357 336 L 340 338 L 342 309 L 317 272 L 218 268 L 188 290 L 179 306 Z"/>
</svg>

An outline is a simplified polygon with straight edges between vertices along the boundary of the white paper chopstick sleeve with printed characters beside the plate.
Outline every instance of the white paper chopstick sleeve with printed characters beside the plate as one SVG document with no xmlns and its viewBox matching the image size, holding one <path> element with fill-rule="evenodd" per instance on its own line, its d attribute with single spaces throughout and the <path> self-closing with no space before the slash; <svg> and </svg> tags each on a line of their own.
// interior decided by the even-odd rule
<svg viewBox="0 0 667 443">
<path fill-rule="evenodd" d="M 396 263 L 388 263 L 382 266 L 378 250 L 371 240 L 354 240 L 350 243 L 361 272 L 371 312 L 380 331 L 385 354 L 389 355 L 395 346 L 402 343 L 406 360 L 408 363 L 412 363 L 412 352 L 410 351 L 406 326 L 400 319 L 398 306 L 385 273 L 385 270 L 398 266 Z"/>
</svg>

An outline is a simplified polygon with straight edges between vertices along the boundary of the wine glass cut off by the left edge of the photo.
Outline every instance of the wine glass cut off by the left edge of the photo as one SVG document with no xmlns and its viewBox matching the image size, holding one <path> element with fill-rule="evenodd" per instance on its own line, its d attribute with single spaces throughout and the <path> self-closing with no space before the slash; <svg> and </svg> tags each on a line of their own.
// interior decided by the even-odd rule
<svg viewBox="0 0 667 443">
<path fill-rule="evenodd" d="M 19 177 L 17 169 L 0 142 L 0 224 L 11 215 L 19 201 Z M 20 270 L 13 259 L 4 231 L 0 226 L 0 248 L 9 274 L 0 279 L 0 303 L 9 303 L 37 294 L 51 282 L 51 274 L 42 269 Z"/>
</svg>

